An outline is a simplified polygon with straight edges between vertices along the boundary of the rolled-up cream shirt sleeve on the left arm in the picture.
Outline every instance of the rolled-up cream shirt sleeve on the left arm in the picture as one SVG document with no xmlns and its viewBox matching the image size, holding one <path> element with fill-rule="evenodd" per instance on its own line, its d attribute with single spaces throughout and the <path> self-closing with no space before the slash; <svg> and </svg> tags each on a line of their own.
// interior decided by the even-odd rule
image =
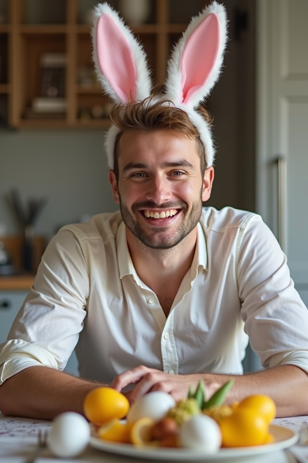
<svg viewBox="0 0 308 463">
<path fill-rule="evenodd" d="M 37 275 L 0 346 L 0 384 L 32 365 L 62 370 L 83 328 L 90 292 L 82 243 L 63 229 L 50 241 Z"/>
</svg>

